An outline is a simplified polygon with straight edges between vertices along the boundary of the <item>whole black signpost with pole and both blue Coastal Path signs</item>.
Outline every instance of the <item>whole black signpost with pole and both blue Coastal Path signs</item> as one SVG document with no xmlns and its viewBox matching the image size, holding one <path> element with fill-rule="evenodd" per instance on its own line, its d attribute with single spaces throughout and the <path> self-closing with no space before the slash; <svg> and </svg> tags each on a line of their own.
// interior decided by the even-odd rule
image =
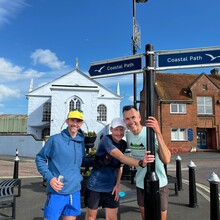
<svg viewBox="0 0 220 220">
<path fill-rule="evenodd" d="M 154 55 L 158 55 L 158 67 L 154 67 Z M 89 69 L 91 78 L 117 76 L 143 72 L 141 55 L 105 60 L 92 63 Z M 220 66 L 220 47 L 195 48 L 175 51 L 153 51 L 153 45 L 146 45 L 146 116 L 154 111 L 154 71 L 185 69 L 196 67 Z M 147 128 L 147 149 L 155 154 L 154 131 Z M 188 129 L 188 140 L 193 140 L 193 130 Z M 159 179 L 155 171 L 155 162 L 147 165 L 144 178 L 145 219 L 161 220 Z"/>
</svg>

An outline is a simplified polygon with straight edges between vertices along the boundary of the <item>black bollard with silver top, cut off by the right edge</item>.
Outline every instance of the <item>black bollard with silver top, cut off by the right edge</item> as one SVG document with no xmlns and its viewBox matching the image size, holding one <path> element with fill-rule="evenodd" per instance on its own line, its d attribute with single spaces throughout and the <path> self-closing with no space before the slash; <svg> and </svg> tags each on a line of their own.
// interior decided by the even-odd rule
<svg viewBox="0 0 220 220">
<path fill-rule="evenodd" d="M 213 172 L 208 181 L 210 183 L 210 220 L 220 220 L 219 216 L 219 194 L 218 183 L 219 177 Z"/>
</svg>

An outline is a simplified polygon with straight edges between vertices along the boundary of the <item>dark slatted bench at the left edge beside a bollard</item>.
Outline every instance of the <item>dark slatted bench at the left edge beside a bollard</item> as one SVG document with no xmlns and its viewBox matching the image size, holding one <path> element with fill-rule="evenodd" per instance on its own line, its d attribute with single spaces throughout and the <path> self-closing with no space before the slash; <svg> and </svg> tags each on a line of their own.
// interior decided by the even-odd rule
<svg viewBox="0 0 220 220">
<path fill-rule="evenodd" d="M 0 209 L 12 208 L 12 215 L 8 218 L 16 219 L 16 197 L 20 196 L 21 179 L 5 179 L 0 182 Z"/>
</svg>

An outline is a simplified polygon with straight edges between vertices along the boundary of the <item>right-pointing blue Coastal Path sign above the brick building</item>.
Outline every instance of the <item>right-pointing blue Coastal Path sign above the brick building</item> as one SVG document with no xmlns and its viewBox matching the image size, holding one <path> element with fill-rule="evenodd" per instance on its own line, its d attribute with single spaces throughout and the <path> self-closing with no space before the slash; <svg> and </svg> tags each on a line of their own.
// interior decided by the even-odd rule
<svg viewBox="0 0 220 220">
<path fill-rule="evenodd" d="M 157 51 L 156 70 L 220 66 L 220 47 Z"/>
</svg>

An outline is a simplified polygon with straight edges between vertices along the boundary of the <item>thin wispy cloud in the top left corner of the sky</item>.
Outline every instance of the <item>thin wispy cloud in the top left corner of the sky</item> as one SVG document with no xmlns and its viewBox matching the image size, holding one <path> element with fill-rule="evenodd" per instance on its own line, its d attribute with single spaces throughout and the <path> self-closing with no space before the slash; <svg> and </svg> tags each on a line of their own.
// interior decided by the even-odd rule
<svg viewBox="0 0 220 220">
<path fill-rule="evenodd" d="M 10 20 L 27 6 L 26 0 L 1 0 L 0 1 L 0 27 L 9 24 Z"/>
</svg>

